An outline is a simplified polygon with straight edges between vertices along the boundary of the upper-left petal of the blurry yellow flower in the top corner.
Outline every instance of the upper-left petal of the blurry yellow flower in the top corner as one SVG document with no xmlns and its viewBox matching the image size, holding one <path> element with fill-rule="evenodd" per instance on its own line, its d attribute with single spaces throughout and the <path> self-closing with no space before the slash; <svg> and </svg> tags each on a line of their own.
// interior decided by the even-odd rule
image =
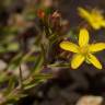
<svg viewBox="0 0 105 105">
<path fill-rule="evenodd" d="M 81 16 L 81 18 L 84 18 L 84 19 L 86 19 L 86 20 L 90 20 L 90 13 L 89 13 L 89 11 L 86 11 L 85 9 L 83 9 L 83 8 L 78 8 L 78 11 L 79 11 L 79 15 Z"/>
</svg>

